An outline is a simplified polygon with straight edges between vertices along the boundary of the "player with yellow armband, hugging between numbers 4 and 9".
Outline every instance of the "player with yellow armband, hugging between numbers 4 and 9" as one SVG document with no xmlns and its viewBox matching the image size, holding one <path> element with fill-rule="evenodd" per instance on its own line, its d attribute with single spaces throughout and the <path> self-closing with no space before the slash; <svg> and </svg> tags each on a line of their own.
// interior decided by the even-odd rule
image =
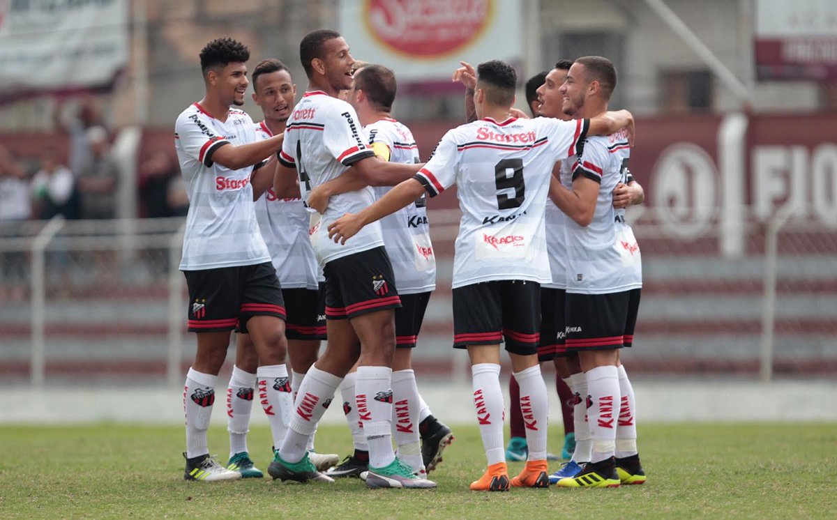
<svg viewBox="0 0 837 520">
<path fill-rule="evenodd" d="M 354 83 L 347 100 L 357 111 L 363 130 L 369 136 L 370 148 L 382 161 L 419 163 L 418 146 L 410 130 L 394 120 L 392 106 L 397 84 L 395 74 L 382 65 L 367 65 L 354 74 Z M 354 175 L 349 171 L 348 175 Z M 321 196 L 333 196 L 338 183 L 346 182 L 338 177 L 318 186 L 309 197 L 314 206 Z M 352 184 L 352 181 L 348 181 Z M 339 188 L 337 188 L 339 189 Z M 374 188 L 377 197 L 389 191 L 388 186 Z M 401 308 L 395 310 L 395 354 L 393 355 L 393 436 L 398 446 L 398 457 L 413 467 L 419 476 L 432 471 L 441 459 L 441 453 L 453 439 L 447 426 L 429 414 L 429 408 L 419 395 L 411 362 L 411 351 L 418 341 L 419 330 L 430 293 L 436 286 L 436 261 L 430 243 L 427 211 L 424 196 L 388 217 L 381 227 L 387 255 L 393 264 L 393 274 L 398 285 Z M 366 471 L 368 452 L 362 428 L 357 421 L 357 408 L 352 406 L 355 395 L 354 372 L 347 374 L 340 389 L 344 396 L 343 410 L 352 430 L 354 454 L 326 474 L 331 477 L 359 476 Z M 428 415 L 421 417 L 422 410 Z M 426 441 L 420 444 L 419 432 L 424 431 Z M 424 448 L 424 449 L 423 449 Z M 427 468 L 425 470 L 425 464 Z"/>
</svg>

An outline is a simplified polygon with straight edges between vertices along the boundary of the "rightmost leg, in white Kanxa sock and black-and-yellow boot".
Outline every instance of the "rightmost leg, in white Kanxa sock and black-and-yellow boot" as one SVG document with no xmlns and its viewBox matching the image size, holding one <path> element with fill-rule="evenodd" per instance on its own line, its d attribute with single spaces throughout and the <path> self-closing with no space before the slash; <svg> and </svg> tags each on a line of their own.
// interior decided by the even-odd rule
<svg viewBox="0 0 837 520">
<path fill-rule="evenodd" d="M 624 346 L 634 343 L 634 326 L 639 311 L 639 289 L 632 289 L 629 296 L 628 321 L 625 325 Z M 621 353 L 621 351 L 619 352 Z M 645 472 L 639 461 L 636 446 L 636 400 L 634 387 L 628 379 L 621 359 L 617 359 L 619 370 L 619 421 L 616 425 L 616 472 L 623 484 L 644 484 Z"/>
</svg>

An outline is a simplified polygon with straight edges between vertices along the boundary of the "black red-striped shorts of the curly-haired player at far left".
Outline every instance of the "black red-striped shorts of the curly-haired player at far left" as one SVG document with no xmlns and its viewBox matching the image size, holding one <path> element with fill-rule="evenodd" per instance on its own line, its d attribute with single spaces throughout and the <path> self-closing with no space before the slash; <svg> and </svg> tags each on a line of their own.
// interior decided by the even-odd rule
<svg viewBox="0 0 837 520">
<path fill-rule="evenodd" d="M 234 330 L 253 316 L 285 319 L 279 278 L 270 262 L 183 275 L 189 289 L 189 332 Z"/>
</svg>

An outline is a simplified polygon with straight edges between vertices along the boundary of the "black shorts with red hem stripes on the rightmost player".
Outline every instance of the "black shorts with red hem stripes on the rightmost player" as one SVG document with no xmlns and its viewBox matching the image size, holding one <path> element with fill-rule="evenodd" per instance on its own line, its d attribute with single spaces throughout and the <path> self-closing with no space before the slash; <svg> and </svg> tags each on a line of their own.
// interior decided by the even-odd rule
<svg viewBox="0 0 837 520">
<path fill-rule="evenodd" d="M 567 352 L 631 346 L 639 311 L 639 291 L 567 293 Z"/>
</svg>

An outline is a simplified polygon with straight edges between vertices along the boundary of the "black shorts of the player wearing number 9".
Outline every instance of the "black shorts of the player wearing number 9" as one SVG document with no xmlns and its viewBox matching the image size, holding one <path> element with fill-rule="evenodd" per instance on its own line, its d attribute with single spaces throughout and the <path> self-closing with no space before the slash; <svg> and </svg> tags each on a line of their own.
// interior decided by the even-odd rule
<svg viewBox="0 0 837 520">
<path fill-rule="evenodd" d="M 501 344 L 511 354 L 537 354 L 541 285 L 496 280 L 454 288 L 454 349 Z"/>
</svg>

